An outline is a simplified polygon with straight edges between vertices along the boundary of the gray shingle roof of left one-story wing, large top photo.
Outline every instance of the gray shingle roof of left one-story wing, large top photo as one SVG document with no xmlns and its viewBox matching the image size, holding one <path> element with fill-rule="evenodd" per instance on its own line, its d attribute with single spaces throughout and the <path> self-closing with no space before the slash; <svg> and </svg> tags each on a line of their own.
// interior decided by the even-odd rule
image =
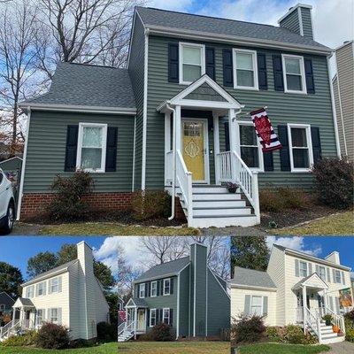
<svg viewBox="0 0 354 354">
<path fill-rule="evenodd" d="M 59 63 L 49 92 L 27 103 L 135 108 L 135 96 L 127 69 Z"/>
</svg>

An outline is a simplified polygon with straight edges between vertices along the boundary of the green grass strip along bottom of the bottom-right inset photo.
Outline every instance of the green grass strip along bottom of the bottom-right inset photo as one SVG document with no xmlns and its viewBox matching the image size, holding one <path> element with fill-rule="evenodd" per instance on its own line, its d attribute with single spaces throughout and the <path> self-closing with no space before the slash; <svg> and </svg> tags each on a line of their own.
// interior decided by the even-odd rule
<svg viewBox="0 0 354 354">
<path fill-rule="evenodd" d="M 252 344 L 241 347 L 240 354 L 317 354 L 330 348 L 327 345 Z"/>
</svg>

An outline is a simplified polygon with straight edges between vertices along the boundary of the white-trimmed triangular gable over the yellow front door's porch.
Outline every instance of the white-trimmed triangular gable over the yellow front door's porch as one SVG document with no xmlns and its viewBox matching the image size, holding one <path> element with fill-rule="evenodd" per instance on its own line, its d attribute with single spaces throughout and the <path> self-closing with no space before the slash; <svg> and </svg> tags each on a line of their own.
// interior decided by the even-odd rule
<svg viewBox="0 0 354 354">
<path fill-rule="evenodd" d="M 202 86 L 212 89 L 219 100 L 203 100 L 203 99 L 191 99 L 188 96 L 193 94 L 196 89 Z M 179 94 L 173 96 L 171 99 L 164 101 L 158 105 L 158 112 L 169 111 L 168 105 L 181 105 L 184 107 L 197 107 L 197 108 L 210 108 L 210 109 L 235 109 L 241 110 L 244 104 L 240 104 L 233 96 L 231 96 L 225 89 L 219 86 L 218 83 L 213 81 L 206 73 L 196 81 L 192 82 L 186 89 L 183 89 Z"/>
</svg>

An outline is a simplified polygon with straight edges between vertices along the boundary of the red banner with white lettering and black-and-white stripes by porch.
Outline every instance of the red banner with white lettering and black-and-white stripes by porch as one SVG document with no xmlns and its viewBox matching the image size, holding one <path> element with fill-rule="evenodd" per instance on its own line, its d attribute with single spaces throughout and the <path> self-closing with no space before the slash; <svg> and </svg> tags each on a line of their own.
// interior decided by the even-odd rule
<svg viewBox="0 0 354 354">
<path fill-rule="evenodd" d="M 281 149 L 281 142 L 278 139 L 278 135 L 274 132 L 266 110 L 261 108 L 250 112 L 250 116 L 252 117 L 258 140 L 262 145 L 262 150 L 266 152 Z"/>
</svg>

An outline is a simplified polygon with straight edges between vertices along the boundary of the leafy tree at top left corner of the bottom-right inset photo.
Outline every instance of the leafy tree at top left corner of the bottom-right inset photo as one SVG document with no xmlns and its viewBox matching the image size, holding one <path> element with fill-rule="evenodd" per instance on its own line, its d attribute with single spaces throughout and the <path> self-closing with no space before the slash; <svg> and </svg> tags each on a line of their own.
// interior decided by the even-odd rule
<svg viewBox="0 0 354 354">
<path fill-rule="evenodd" d="M 235 266 L 266 271 L 269 249 L 266 236 L 244 236 L 231 238 L 231 272 Z"/>
</svg>

